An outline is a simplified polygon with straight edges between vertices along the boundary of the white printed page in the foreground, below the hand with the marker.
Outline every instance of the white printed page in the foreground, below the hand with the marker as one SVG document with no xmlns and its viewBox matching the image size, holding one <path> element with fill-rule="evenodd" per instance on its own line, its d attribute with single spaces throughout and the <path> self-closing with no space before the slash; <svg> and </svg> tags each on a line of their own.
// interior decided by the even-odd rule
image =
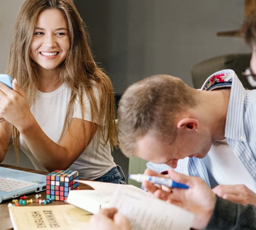
<svg viewBox="0 0 256 230">
<path fill-rule="evenodd" d="M 160 199 L 119 186 L 110 202 L 131 222 L 132 230 L 189 230 L 194 215 Z"/>
</svg>

